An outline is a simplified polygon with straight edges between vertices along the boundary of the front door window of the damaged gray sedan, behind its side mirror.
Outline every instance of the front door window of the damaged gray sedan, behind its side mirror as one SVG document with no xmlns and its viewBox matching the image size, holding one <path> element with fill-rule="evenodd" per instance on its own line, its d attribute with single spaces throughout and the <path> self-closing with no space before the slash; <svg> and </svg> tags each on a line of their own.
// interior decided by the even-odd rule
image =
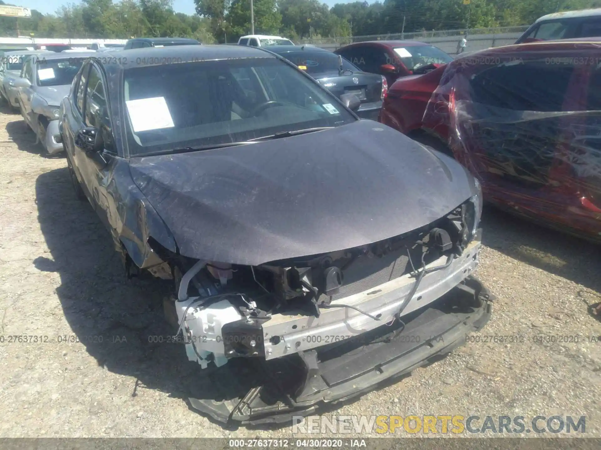
<svg viewBox="0 0 601 450">
<path fill-rule="evenodd" d="M 85 100 L 85 124 L 100 130 L 105 149 L 114 152 L 109 118 L 108 100 L 102 73 L 96 64 L 91 64 Z"/>
</svg>

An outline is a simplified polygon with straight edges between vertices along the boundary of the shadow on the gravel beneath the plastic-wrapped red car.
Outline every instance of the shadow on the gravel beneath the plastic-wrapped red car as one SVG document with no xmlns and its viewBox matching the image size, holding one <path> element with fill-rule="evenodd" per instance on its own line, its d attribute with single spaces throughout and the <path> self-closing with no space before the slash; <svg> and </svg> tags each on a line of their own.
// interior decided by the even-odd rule
<svg viewBox="0 0 601 450">
<path fill-rule="evenodd" d="M 583 302 L 601 301 L 601 245 L 546 229 L 486 206 L 483 243 L 514 259 L 542 269 L 593 292 L 581 292 Z"/>
</svg>

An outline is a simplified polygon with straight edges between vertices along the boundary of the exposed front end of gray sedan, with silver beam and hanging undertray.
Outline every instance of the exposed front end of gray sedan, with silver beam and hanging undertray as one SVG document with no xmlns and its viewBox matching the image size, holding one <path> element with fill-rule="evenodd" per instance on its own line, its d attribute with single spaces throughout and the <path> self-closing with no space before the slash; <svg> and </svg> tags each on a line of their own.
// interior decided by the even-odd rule
<svg viewBox="0 0 601 450">
<path fill-rule="evenodd" d="M 477 195 L 358 248 L 258 266 L 195 262 L 175 302 L 188 359 L 207 370 L 192 406 L 223 422 L 289 421 L 450 352 L 490 314 L 471 275 L 480 214 Z"/>
</svg>

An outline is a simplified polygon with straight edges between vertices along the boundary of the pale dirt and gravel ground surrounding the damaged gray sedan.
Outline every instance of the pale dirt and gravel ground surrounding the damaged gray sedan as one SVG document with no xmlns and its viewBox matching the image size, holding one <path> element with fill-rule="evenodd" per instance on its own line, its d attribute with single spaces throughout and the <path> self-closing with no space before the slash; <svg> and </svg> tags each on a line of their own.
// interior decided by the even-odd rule
<svg viewBox="0 0 601 450">
<path fill-rule="evenodd" d="M 66 160 L 34 142 L 18 114 L 0 110 L 0 436 L 290 436 L 226 430 L 188 407 L 200 368 L 182 347 L 148 342 L 168 332 L 165 286 L 126 280 L 108 233 L 75 199 Z M 525 341 L 466 344 L 334 413 L 586 415 L 587 435 L 601 437 L 601 323 L 587 312 L 601 300 L 599 246 L 494 209 L 483 227 L 478 276 L 498 301 L 480 335 Z"/>
</svg>

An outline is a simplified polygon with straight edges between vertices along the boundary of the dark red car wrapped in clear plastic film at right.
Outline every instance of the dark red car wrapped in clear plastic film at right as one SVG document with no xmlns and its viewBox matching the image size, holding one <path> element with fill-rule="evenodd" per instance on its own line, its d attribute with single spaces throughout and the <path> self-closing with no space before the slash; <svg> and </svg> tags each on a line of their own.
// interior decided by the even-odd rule
<svg viewBox="0 0 601 450">
<path fill-rule="evenodd" d="M 447 151 L 484 197 L 601 241 L 600 38 L 487 49 L 389 89 L 379 121 Z"/>
</svg>

